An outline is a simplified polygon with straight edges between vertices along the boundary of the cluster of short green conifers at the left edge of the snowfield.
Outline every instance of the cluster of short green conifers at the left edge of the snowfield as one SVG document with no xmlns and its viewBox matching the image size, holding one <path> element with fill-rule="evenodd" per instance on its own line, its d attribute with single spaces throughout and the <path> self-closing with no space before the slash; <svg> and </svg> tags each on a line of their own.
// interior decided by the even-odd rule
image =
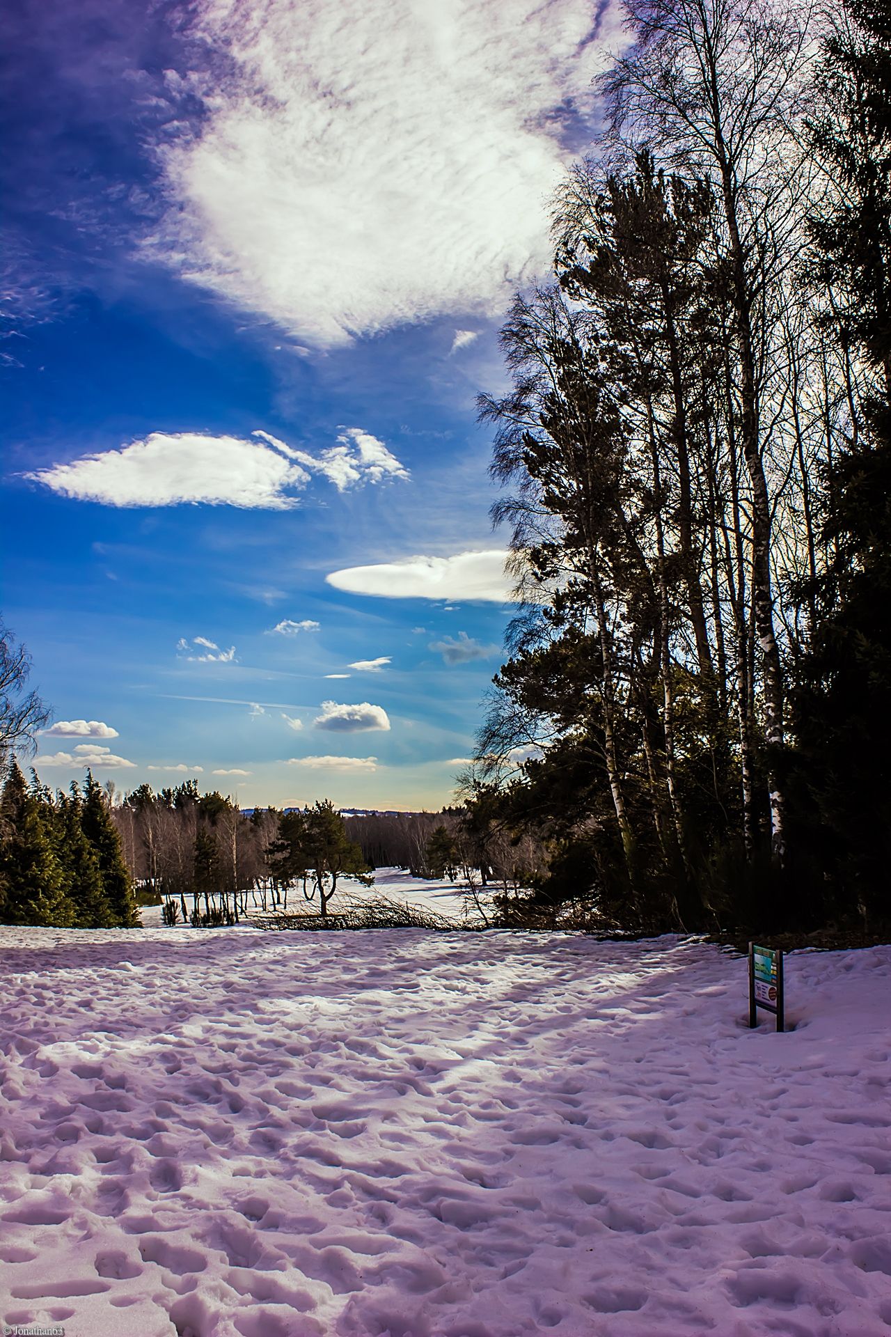
<svg viewBox="0 0 891 1337">
<path fill-rule="evenodd" d="M 15 759 L 0 794 L 0 924 L 139 928 L 108 797 L 91 774 L 51 793 Z"/>
</svg>

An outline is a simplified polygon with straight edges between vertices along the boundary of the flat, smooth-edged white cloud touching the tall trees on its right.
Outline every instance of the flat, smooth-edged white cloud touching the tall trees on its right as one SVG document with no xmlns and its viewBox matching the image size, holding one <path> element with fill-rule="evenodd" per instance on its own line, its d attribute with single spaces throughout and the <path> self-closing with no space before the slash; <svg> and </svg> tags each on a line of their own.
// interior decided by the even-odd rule
<svg viewBox="0 0 891 1337">
<path fill-rule="evenodd" d="M 402 558 L 371 567 L 346 567 L 326 576 L 335 590 L 382 599 L 481 599 L 510 603 L 505 548 L 456 552 L 452 558 Z"/>
</svg>

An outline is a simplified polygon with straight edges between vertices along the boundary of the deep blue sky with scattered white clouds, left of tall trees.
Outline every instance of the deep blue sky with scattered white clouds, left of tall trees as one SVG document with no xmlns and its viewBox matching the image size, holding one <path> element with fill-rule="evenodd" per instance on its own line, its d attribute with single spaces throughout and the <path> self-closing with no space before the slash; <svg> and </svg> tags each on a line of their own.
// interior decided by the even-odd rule
<svg viewBox="0 0 891 1337">
<path fill-rule="evenodd" d="M 449 802 L 514 611 L 476 398 L 614 0 L 12 0 L 0 37 L 40 778 Z"/>
</svg>

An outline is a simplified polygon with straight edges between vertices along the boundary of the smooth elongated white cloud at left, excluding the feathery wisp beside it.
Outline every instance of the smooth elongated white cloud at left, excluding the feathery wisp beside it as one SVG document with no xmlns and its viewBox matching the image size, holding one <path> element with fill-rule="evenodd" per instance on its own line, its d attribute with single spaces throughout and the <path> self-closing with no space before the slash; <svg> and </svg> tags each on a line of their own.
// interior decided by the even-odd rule
<svg viewBox="0 0 891 1337">
<path fill-rule="evenodd" d="M 63 496 L 104 505 L 204 503 L 286 511 L 297 505 L 289 489 L 306 487 L 310 476 L 281 451 L 259 441 L 152 432 L 119 451 L 87 455 L 25 477 Z"/>
</svg>

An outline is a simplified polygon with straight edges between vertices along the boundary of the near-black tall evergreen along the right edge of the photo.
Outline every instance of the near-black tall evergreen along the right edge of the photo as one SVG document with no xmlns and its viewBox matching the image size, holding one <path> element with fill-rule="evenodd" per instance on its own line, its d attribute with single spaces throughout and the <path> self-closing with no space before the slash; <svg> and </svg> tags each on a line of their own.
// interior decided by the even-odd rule
<svg viewBox="0 0 891 1337">
<path fill-rule="evenodd" d="M 816 627 L 797 666 L 792 775 L 823 912 L 888 917 L 891 864 L 891 3 L 827 41 L 812 146 L 838 190 L 811 215 L 827 324 L 871 385 L 828 471 Z M 807 591 L 812 594 L 812 591 Z"/>
</svg>

